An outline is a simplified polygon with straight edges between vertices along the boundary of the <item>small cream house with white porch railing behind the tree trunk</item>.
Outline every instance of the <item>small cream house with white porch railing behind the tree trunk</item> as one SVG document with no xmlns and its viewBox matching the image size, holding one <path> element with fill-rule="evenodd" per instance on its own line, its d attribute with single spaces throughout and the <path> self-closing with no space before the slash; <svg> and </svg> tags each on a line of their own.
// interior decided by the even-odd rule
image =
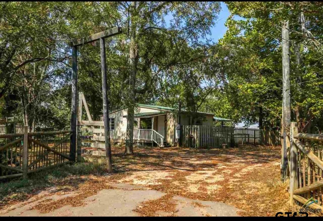
<svg viewBox="0 0 323 221">
<path fill-rule="evenodd" d="M 197 112 L 192 119 L 188 112 L 181 112 L 181 125 L 212 126 L 214 114 Z M 103 115 L 100 116 L 103 121 Z M 156 143 L 158 146 L 176 142 L 175 128 L 178 123 L 178 111 L 171 107 L 137 104 L 135 108 L 135 143 Z M 112 142 L 125 142 L 127 131 L 127 109 L 118 109 L 109 113 L 110 137 Z"/>
</svg>

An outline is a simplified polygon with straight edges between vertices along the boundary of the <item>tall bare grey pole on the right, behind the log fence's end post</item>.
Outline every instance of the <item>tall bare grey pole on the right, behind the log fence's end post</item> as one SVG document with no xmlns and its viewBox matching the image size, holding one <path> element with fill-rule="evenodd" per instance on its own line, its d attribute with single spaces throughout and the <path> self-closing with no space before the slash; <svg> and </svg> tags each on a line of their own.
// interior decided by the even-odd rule
<svg viewBox="0 0 323 221">
<path fill-rule="evenodd" d="M 287 130 L 290 128 L 290 79 L 289 79 L 289 21 L 283 21 L 282 25 L 282 66 L 283 66 L 283 119 L 282 119 L 282 180 L 287 180 L 289 139 Z"/>
</svg>

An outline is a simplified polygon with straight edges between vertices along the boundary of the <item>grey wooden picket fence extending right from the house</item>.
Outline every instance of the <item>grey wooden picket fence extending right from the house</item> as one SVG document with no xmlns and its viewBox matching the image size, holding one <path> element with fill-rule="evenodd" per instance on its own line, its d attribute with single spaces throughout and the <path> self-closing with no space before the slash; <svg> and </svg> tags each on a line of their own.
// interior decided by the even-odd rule
<svg viewBox="0 0 323 221">
<path fill-rule="evenodd" d="M 280 145 L 280 132 L 258 128 L 183 125 L 181 134 L 185 147 L 216 148 L 227 146 Z"/>
</svg>

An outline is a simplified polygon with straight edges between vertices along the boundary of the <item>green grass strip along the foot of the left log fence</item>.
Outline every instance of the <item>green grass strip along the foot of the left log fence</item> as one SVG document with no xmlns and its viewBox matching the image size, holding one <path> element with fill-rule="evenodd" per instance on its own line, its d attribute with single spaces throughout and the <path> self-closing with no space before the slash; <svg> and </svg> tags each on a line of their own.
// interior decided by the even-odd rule
<svg viewBox="0 0 323 221">
<path fill-rule="evenodd" d="M 0 183 L 0 208 L 10 203 L 26 200 L 38 190 L 49 186 L 75 186 L 84 179 L 75 179 L 83 175 L 106 174 L 104 165 L 94 163 L 75 163 L 28 175 L 28 179 L 16 178 Z"/>
</svg>

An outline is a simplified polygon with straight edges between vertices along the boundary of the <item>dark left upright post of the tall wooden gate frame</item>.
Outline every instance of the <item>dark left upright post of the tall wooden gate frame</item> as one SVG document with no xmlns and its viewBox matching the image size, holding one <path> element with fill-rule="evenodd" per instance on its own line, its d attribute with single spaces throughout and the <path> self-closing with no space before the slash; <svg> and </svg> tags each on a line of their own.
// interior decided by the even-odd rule
<svg viewBox="0 0 323 221">
<path fill-rule="evenodd" d="M 77 66 L 77 46 L 72 46 L 72 116 L 71 116 L 71 142 L 69 156 L 75 161 L 76 155 L 76 113 L 78 96 L 78 66 Z"/>
</svg>

